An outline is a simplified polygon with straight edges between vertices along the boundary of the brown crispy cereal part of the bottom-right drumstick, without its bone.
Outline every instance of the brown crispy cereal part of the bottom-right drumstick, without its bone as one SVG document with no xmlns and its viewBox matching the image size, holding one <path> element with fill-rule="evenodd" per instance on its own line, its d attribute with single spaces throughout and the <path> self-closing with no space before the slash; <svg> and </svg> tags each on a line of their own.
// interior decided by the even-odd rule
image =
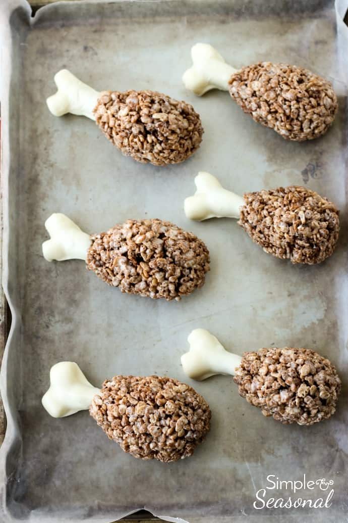
<svg viewBox="0 0 348 523">
<path fill-rule="evenodd" d="M 285 347 L 243 354 L 234 381 L 264 416 L 313 425 L 335 412 L 341 381 L 331 362 L 310 349 Z"/>
</svg>

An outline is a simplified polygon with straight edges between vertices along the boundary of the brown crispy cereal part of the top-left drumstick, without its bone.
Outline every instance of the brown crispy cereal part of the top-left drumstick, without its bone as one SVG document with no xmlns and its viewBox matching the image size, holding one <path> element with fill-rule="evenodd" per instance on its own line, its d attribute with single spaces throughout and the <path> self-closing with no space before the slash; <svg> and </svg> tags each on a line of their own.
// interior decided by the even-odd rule
<svg viewBox="0 0 348 523">
<path fill-rule="evenodd" d="M 194 108 L 161 93 L 105 91 L 94 114 L 106 138 L 137 162 L 180 163 L 202 141 L 203 128 Z"/>
</svg>

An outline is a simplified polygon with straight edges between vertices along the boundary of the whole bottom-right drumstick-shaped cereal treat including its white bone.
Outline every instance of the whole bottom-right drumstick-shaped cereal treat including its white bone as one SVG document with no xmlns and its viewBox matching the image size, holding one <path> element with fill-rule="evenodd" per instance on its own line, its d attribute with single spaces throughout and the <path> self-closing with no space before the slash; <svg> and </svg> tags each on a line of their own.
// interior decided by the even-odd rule
<svg viewBox="0 0 348 523">
<path fill-rule="evenodd" d="M 190 350 L 181 358 L 194 380 L 231 374 L 238 392 L 264 416 L 289 424 L 313 425 L 334 414 L 341 381 L 327 359 L 314 350 L 284 347 L 237 356 L 205 329 L 188 337 Z"/>
</svg>

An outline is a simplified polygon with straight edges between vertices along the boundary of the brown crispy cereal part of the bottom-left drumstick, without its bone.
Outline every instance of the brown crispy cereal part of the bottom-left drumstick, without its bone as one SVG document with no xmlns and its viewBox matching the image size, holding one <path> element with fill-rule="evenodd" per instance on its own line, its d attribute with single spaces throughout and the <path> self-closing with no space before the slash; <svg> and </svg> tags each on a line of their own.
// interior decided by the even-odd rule
<svg viewBox="0 0 348 523">
<path fill-rule="evenodd" d="M 187 458 L 210 429 L 209 405 L 172 378 L 115 376 L 93 398 L 90 415 L 135 458 L 164 463 Z"/>
</svg>

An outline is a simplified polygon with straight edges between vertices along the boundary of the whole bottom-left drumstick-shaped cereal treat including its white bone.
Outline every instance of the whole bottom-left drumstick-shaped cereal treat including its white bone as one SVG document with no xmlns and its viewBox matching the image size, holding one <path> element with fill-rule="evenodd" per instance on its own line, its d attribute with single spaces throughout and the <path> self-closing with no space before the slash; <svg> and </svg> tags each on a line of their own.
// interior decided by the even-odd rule
<svg viewBox="0 0 348 523">
<path fill-rule="evenodd" d="M 210 429 L 209 405 L 185 383 L 158 376 L 114 376 L 97 389 L 73 361 L 51 368 L 42 405 L 55 418 L 89 409 L 122 450 L 164 463 L 191 456 Z"/>
</svg>

